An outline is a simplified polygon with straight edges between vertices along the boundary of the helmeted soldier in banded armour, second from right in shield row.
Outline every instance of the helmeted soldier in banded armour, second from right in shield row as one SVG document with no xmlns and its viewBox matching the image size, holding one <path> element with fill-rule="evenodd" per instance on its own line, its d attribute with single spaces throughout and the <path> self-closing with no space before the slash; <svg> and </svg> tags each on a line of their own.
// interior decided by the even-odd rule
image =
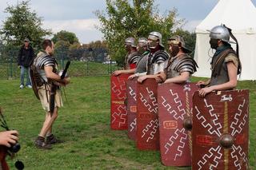
<svg viewBox="0 0 256 170">
<path fill-rule="evenodd" d="M 191 50 L 186 48 L 184 39 L 178 35 L 169 38 L 168 45 L 171 57 L 166 62 L 164 71 L 158 74 L 156 80 L 158 82 L 165 81 L 165 83 L 189 81 L 190 75 L 196 72 L 198 67 L 194 59 L 189 56 Z"/>
</svg>

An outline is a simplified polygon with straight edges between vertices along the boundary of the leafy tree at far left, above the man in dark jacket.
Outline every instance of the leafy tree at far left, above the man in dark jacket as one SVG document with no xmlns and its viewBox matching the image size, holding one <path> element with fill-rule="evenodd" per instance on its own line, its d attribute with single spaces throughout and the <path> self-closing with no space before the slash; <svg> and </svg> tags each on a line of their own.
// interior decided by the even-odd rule
<svg viewBox="0 0 256 170">
<path fill-rule="evenodd" d="M 30 0 L 22 1 L 17 6 L 7 6 L 5 13 L 10 14 L 3 22 L 2 34 L 6 45 L 21 45 L 29 38 L 34 47 L 39 47 L 42 38 L 50 35 L 50 30 L 42 29 L 42 18 L 30 10 Z"/>
</svg>

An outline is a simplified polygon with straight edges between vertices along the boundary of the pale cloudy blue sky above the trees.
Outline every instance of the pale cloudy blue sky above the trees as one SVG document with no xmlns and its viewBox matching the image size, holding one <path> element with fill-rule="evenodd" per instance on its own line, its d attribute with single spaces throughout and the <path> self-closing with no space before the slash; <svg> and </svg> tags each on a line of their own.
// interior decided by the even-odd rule
<svg viewBox="0 0 256 170">
<path fill-rule="evenodd" d="M 18 0 L 0 0 L 0 26 L 7 17 L 4 13 L 7 4 L 16 5 L 17 2 Z M 217 2 L 218 0 L 155 0 L 155 5 L 158 5 L 162 14 L 174 7 L 178 9 L 178 18 L 186 19 L 184 29 L 192 31 Z M 252 2 L 255 6 L 256 0 Z M 102 40 L 101 32 L 95 29 L 99 22 L 94 11 L 105 10 L 105 0 L 30 0 L 30 7 L 43 18 L 44 28 L 51 29 L 54 33 L 60 30 L 74 32 L 82 43 Z"/>
</svg>

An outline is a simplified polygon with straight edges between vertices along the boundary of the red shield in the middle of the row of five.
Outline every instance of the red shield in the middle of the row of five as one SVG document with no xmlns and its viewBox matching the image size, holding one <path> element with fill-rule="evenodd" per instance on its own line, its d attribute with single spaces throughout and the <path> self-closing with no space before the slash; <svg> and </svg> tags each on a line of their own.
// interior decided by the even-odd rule
<svg viewBox="0 0 256 170">
<path fill-rule="evenodd" d="M 137 84 L 137 148 L 140 150 L 159 149 L 158 125 L 158 84 L 146 79 Z"/>
</svg>

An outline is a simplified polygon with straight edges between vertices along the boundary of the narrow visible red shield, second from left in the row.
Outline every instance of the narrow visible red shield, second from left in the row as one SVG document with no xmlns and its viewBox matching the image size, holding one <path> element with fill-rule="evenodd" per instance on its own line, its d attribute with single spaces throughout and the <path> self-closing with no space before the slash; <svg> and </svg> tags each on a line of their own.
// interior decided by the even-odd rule
<svg viewBox="0 0 256 170">
<path fill-rule="evenodd" d="M 127 93 L 127 117 L 128 117 L 128 137 L 132 140 L 136 140 L 136 126 L 137 126 L 137 80 L 135 77 L 133 80 L 126 82 Z"/>
</svg>

